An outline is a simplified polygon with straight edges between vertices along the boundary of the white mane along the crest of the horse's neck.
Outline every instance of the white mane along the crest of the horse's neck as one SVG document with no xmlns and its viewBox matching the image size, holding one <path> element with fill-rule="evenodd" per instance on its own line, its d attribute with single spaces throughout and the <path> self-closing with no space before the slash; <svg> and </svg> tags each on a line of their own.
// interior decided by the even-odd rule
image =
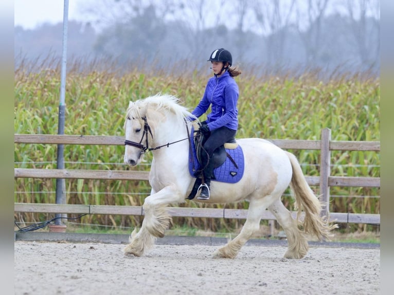
<svg viewBox="0 0 394 295">
<path fill-rule="evenodd" d="M 194 117 L 185 106 L 180 104 L 180 100 L 177 97 L 158 93 L 145 99 L 139 99 L 134 102 L 130 101 L 126 118 L 144 118 L 149 108 L 153 108 L 159 112 L 171 112 L 178 120 L 182 121 L 185 118 Z"/>
</svg>

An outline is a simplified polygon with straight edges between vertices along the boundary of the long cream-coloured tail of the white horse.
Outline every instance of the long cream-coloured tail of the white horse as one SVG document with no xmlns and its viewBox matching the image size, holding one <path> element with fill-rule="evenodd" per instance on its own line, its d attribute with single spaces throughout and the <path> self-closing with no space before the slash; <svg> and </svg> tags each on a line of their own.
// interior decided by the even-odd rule
<svg viewBox="0 0 394 295">
<path fill-rule="evenodd" d="M 303 209 L 305 218 L 303 219 L 302 226 L 305 232 L 315 235 L 320 241 L 323 238 L 331 237 L 332 234 L 330 234 L 330 231 L 338 226 L 336 224 L 330 224 L 328 222 L 328 216 L 320 217 L 321 204 L 309 187 L 297 158 L 292 153 L 286 152 L 286 154 L 289 156 L 293 168 L 290 188 L 295 196 L 297 222 L 300 220 L 299 217 Z"/>
</svg>

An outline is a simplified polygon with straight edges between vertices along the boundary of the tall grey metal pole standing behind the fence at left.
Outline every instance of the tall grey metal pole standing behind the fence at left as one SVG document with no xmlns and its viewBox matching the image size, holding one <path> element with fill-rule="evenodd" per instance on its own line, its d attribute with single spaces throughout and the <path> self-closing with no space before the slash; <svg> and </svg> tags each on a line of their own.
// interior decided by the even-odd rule
<svg viewBox="0 0 394 295">
<path fill-rule="evenodd" d="M 64 13 L 63 13 L 63 51 L 62 51 L 62 66 L 60 78 L 60 104 L 59 104 L 59 122 L 58 134 L 64 134 L 64 121 L 65 121 L 65 93 L 66 93 L 66 64 L 67 64 L 67 27 L 68 27 L 68 0 L 64 0 Z M 64 169 L 64 145 L 58 144 L 58 158 L 57 169 Z M 56 204 L 66 203 L 66 183 L 62 178 L 56 179 Z M 65 214 L 63 217 L 66 216 Z M 62 214 L 57 213 L 55 217 L 62 217 Z M 55 225 L 61 225 L 61 219 L 55 220 Z"/>
</svg>

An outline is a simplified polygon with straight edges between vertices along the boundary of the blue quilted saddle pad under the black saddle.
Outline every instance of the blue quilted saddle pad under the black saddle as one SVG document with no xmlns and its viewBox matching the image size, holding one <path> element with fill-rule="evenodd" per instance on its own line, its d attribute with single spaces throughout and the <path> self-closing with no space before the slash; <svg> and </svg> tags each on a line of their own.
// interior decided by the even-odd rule
<svg viewBox="0 0 394 295">
<path fill-rule="evenodd" d="M 191 130 L 191 134 L 193 134 L 193 128 Z M 194 176 L 194 172 L 201 169 L 201 164 L 199 163 L 195 151 L 195 144 L 194 140 L 190 140 L 191 149 L 189 151 L 189 173 L 191 176 Z M 227 156 L 225 162 L 220 165 L 218 168 L 213 170 L 214 178 L 211 180 L 221 181 L 221 182 L 228 182 L 228 183 L 236 183 L 238 182 L 244 172 L 245 163 L 244 163 L 244 156 L 243 151 L 240 145 L 237 146 L 236 149 L 230 150 L 225 149 L 227 154 L 235 161 L 237 167 L 232 163 L 230 158 Z"/>
</svg>

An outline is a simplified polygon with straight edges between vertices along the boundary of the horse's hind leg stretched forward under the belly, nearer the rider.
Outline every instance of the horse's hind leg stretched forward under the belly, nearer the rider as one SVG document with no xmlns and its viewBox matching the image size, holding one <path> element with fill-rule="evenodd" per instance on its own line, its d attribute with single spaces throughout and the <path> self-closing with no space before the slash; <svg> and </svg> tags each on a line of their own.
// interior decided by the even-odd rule
<svg viewBox="0 0 394 295">
<path fill-rule="evenodd" d="M 241 232 L 225 246 L 213 253 L 214 258 L 235 258 L 248 239 L 260 228 L 262 212 L 266 209 L 264 199 L 252 200 L 249 204 L 247 218 Z"/>
</svg>

